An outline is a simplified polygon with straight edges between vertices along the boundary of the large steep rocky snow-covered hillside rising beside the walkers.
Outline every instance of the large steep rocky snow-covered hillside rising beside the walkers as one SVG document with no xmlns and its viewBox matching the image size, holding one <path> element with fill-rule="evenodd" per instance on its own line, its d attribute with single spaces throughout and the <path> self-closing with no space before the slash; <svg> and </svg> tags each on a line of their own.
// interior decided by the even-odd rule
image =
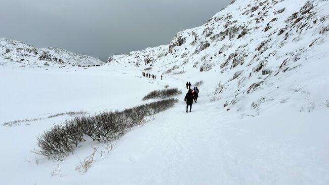
<svg viewBox="0 0 329 185">
<path fill-rule="evenodd" d="M 329 90 L 328 9 L 323 0 L 237 0 L 202 26 L 178 32 L 169 45 L 115 55 L 107 65 L 203 80 L 216 86 L 210 100 L 252 110 L 244 115 L 285 102 L 300 111 L 329 107 L 328 95 L 318 93 Z"/>
</svg>

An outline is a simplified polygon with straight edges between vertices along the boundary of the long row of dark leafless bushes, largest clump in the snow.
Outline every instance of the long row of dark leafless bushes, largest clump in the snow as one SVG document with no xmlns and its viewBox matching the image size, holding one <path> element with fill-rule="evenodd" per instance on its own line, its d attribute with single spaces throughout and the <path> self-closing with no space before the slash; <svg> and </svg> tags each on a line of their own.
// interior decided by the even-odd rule
<svg viewBox="0 0 329 185">
<path fill-rule="evenodd" d="M 64 160 L 70 152 L 89 136 L 94 141 L 111 142 L 131 127 L 143 123 L 147 116 L 162 112 L 178 102 L 170 98 L 125 110 L 103 112 L 95 116 L 76 116 L 64 124 L 54 125 L 37 137 L 38 149 L 33 152 L 56 160 Z"/>
</svg>

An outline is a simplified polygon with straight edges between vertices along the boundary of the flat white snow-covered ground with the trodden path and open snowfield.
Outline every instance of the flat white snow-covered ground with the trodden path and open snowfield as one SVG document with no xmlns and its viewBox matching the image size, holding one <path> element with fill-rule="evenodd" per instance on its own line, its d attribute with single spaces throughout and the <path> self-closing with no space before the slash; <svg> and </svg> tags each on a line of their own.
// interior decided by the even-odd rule
<svg viewBox="0 0 329 185">
<path fill-rule="evenodd" d="M 165 85 L 185 92 L 188 77 L 151 80 L 132 67 L 118 66 L 0 68 L 0 75 L 0 122 L 43 118 L 0 126 L 1 184 L 329 183 L 328 108 L 300 112 L 293 108 L 295 101 L 288 101 L 259 116 L 241 117 L 236 109 L 211 102 L 206 92 L 213 86 L 205 83 L 192 113 L 185 113 L 183 93 L 173 108 L 134 127 L 112 151 L 86 141 L 58 162 L 30 152 L 37 135 L 70 118 L 48 116 L 142 104 L 145 94 Z M 99 153 L 91 168 L 80 173 L 79 161 L 93 152 L 92 146 Z"/>
</svg>

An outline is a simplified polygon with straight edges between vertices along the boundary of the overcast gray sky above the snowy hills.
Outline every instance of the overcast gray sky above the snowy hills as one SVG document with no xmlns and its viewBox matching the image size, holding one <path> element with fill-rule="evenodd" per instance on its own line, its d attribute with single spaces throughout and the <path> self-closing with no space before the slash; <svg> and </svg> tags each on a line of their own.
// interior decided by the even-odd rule
<svg viewBox="0 0 329 185">
<path fill-rule="evenodd" d="M 232 0 L 0 1 L 0 37 L 108 58 L 168 44 Z"/>
</svg>

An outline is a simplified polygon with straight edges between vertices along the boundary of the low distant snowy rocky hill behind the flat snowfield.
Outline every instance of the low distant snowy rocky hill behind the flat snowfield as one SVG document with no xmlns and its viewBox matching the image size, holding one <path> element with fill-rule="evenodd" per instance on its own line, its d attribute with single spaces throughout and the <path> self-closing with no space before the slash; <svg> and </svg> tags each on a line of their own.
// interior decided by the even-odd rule
<svg viewBox="0 0 329 185">
<path fill-rule="evenodd" d="M 0 38 L 0 65 L 103 65 L 101 60 L 60 48 L 36 48 L 20 41 Z"/>
</svg>

